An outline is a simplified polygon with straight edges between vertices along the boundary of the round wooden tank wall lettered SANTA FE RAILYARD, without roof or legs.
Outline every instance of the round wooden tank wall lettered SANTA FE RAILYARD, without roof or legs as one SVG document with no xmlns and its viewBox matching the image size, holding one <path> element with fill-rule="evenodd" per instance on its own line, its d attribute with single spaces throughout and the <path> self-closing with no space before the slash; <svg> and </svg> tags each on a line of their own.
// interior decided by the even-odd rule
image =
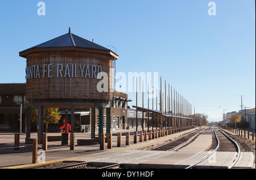
<svg viewBox="0 0 256 180">
<path fill-rule="evenodd" d="M 31 99 L 109 99 L 98 92 L 98 72 L 112 77 L 113 56 L 79 51 L 34 52 L 27 56 L 26 98 Z"/>
</svg>

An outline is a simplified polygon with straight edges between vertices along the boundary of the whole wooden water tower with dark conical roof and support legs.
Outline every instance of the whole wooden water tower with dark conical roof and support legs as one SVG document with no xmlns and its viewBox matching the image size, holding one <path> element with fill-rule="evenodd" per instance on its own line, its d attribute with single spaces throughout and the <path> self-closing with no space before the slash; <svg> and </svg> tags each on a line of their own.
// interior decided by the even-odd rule
<svg viewBox="0 0 256 180">
<path fill-rule="evenodd" d="M 67 34 L 19 52 L 19 56 L 27 60 L 27 138 L 30 137 L 31 108 L 38 108 L 39 142 L 43 135 L 45 107 L 70 110 L 71 133 L 74 132 L 75 109 L 90 108 L 92 138 L 97 125 L 96 110 L 100 135 L 104 129 L 106 108 L 107 133 L 110 132 L 110 104 L 114 96 L 113 72 L 118 55 L 72 34 L 69 28 Z"/>
</svg>

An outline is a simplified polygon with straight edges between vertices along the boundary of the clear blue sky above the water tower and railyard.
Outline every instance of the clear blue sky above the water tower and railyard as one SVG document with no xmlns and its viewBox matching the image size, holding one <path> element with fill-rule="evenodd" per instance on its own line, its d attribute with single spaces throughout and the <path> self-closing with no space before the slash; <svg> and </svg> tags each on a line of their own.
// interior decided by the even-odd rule
<svg viewBox="0 0 256 180">
<path fill-rule="evenodd" d="M 0 83 L 25 82 L 19 52 L 72 33 L 119 55 L 117 72 L 158 72 L 195 110 L 221 119 L 255 107 L 255 5 L 253 0 L 43 1 L 0 0 Z M 135 93 L 129 93 L 135 103 Z M 139 98 L 139 105 L 142 102 Z M 142 103 L 141 103 L 142 104 Z M 193 106 L 194 107 L 194 106 Z"/>
</svg>

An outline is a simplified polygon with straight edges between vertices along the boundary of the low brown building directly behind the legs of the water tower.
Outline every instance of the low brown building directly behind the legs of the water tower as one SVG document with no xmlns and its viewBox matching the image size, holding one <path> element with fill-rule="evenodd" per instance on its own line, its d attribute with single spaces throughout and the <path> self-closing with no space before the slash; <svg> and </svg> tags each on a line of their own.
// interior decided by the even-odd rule
<svg viewBox="0 0 256 180">
<path fill-rule="evenodd" d="M 110 108 L 110 129 L 125 129 L 129 126 L 127 116 L 127 94 L 115 91 L 112 107 Z M 26 131 L 27 119 L 26 83 L 0 84 L 0 131 L 19 131 L 20 106 L 22 105 L 22 132 Z M 91 109 L 84 108 L 74 112 L 74 131 L 89 132 L 91 128 Z M 61 119 L 58 123 L 48 124 L 47 132 L 60 132 L 60 127 L 65 119 L 65 109 L 59 108 Z M 98 111 L 96 111 L 98 131 Z M 68 123 L 71 111 L 67 111 Z M 36 132 L 36 122 L 32 122 L 31 131 Z M 106 129 L 106 108 L 104 109 L 104 129 Z M 46 129 L 44 130 L 46 131 Z"/>
</svg>

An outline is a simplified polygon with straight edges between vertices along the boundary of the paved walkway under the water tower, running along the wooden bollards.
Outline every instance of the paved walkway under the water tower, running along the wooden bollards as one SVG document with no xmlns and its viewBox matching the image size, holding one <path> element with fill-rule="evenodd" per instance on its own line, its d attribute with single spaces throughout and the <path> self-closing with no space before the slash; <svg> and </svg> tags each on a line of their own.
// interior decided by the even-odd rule
<svg viewBox="0 0 256 180">
<path fill-rule="evenodd" d="M 147 128 L 144 128 L 146 130 Z M 138 130 L 141 130 L 139 128 Z M 61 160 L 71 160 L 74 157 L 84 157 L 84 156 L 96 156 L 98 154 L 106 154 L 128 150 L 128 149 L 138 149 L 143 146 L 152 146 L 154 144 L 160 144 L 164 141 L 168 141 L 172 138 L 183 135 L 183 133 L 193 131 L 194 129 L 189 129 L 187 131 L 182 131 L 179 133 L 174 133 L 172 135 L 159 137 L 158 139 L 147 140 L 134 144 L 133 136 L 130 136 L 130 145 L 125 145 L 125 137 L 122 137 L 122 147 L 117 147 L 117 132 L 134 132 L 135 128 L 129 130 L 113 131 L 113 148 L 107 149 L 107 144 L 105 143 L 105 150 L 100 150 L 100 145 L 76 145 L 75 150 L 70 150 L 69 145 L 61 145 L 61 141 L 48 141 L 48 150 L 46 151 L 46 162 L 56 162 Z M 60 133 L 48 133 L 51 135 L 61 135 Z M 36 138 L 36 133 L 31 133 L 31 138 Z M 21 166 L 27 166 L 27 164 L 32 163 L 32 145 L 25 144 L 26 134 L 20 134 L 20 148 L 19 150 L 14 150 L 14 133 L 0 133 L 0 168 L 6 166 L 16 166 L 19 168 Z M 87 133 L 75 133 L 75 139 L 90 139 L 90 132 Z M 42 149 L 42 145 L 38 145 L 38 150 Z M 20 165 L 20 166 L 17 166 Z M 14 167 L 11 167 L 14 168 Z"/>
</svg>

